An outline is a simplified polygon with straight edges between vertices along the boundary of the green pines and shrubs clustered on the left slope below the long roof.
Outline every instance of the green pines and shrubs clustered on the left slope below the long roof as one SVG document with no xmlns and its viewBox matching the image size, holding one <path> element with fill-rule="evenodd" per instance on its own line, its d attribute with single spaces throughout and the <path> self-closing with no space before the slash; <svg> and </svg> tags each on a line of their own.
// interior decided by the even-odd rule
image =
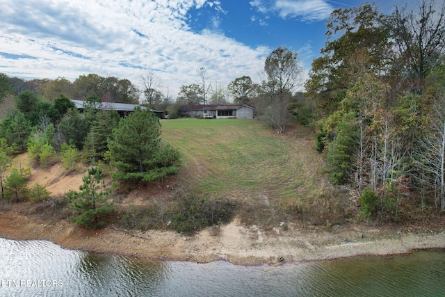
<svg viewBox="0 0 445 297">
<path fill-rule="evenodd" d="M 181 166 L 177 150 L 161 141 L 159 118 L 149 109 L 135 109 L 125 118 L 117 111 L 96 109 L 98 95 L 88 95 L 83 111 L 60 94 L 52 102 L 32 90 L 14 98 L 14 109 L 0 124 L 1 204 L 49 199 L 44 186 L 28 187 L 29 167 L 13 162 L 27 151 L 31 165 L 49 168 L 61 162 L 65 172 L 78 170 L 79 162 L 92 166 L 81 192 L 68 196 L 79 225 L 99 227 L 113 211 L 109 191 L 100 190 L 102 171 L 116 182 L 152 182 L 175 175 Z M 7 174 L 6 174 L 7 173 Z"/>
</svg>

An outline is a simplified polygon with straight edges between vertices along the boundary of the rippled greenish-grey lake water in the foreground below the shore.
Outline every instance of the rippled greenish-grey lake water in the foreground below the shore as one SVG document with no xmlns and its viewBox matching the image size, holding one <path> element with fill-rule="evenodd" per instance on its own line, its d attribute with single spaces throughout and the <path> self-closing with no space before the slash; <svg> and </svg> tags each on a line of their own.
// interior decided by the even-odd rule
<svg viewBox="0 0 445 297">
<path fill-rule="evenodd" d="M 0 296 L 445 296 L 445 250 L 245 267 L 0 239 Z"/>
</svg>

